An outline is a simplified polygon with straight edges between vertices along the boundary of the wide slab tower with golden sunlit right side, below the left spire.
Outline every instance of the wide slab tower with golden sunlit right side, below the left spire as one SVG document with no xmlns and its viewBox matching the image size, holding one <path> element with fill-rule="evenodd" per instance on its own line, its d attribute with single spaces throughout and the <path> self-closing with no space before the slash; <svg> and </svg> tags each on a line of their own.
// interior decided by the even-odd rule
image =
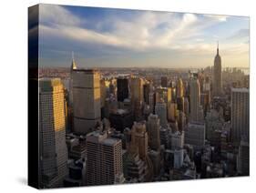
<svg viewBox="0 0 256 193">
<path fill-rule="evenodd" d="M 93 69 L 73 70 L 74 131 L 87 134 L 100 120 L 100 75 Z"/>
</svg>

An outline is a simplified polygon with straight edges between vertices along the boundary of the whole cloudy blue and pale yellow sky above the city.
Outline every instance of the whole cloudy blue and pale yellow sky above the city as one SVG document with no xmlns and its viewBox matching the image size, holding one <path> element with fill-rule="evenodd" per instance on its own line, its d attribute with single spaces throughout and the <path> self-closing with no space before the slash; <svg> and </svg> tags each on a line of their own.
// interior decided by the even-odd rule
<svg viewBox="0 0 256 193">
<path fill-rule="evenodd" d="M 40 66 L 206 67 L 219 41 L 222 67 L 249 67 L 245 16 L 40 5 L 38 27 Z"/>
</svg>

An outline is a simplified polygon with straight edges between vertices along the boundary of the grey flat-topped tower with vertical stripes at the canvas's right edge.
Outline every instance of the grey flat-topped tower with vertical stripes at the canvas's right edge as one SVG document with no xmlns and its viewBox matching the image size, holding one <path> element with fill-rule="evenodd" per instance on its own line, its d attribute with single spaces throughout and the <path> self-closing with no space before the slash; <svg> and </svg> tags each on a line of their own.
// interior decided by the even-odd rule
<svg viewBox="0 0 256 193">
<path fill-rule="evenodd" d="M 231 140 L 239 145 L 241 137 L 249 138 L 249 89 L 231 89 Z"/>
</svg>

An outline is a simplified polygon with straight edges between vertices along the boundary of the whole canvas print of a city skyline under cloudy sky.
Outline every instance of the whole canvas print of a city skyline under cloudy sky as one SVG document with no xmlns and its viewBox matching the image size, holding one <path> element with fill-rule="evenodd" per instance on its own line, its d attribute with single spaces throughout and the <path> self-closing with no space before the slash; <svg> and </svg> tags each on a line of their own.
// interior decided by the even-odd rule
<svg viewBox="0 0 256 193">
<path fill-rule="evenodd" d="M 219 45 L 220 34 L 241 28 L 241 17 L 60 5 L 35 5 L 29 15 L 28 77 L 38 88 L 38 154 L 33 155 L 38 165 L 32 186 L 250 175 L 250 70 L 235 64 L 226 68 L 230 58 L 240 64 L 239 57 L 249 56 L 237 43 L 246 33 L 226 48 Z M 229 23 L 232 18 L 236 25 Z M 200 47 L 210 39 L 192 41 L 216 35 L 214 47 Z M 63 56 L 48 46 L 64 50 Z M 63 62 L 69 65 L 59 66 L 69 51 Z M 183 63 L 180 58 L 187 68 L 160 68 L 164 61 Z M 200 67 L 204 58 L 210 64 Z M 56 67 L 44 67 L 47 59 Z M 159 67 L 148 68 L 156 61 Z"/>
</svg>

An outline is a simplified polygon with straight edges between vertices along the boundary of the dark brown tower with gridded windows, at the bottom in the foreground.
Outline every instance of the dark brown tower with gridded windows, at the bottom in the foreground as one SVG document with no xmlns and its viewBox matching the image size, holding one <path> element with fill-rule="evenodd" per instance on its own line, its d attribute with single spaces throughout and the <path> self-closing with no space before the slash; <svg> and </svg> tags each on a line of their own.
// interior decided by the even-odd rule
<svg viewBox="0 0 256 193">
<path fill-rule="evenodd" d="M 124 182 L 121 140 L 107 132 L 87 134 L 87 185 L 115 184 L 116 179 Z"/>
</svg>

